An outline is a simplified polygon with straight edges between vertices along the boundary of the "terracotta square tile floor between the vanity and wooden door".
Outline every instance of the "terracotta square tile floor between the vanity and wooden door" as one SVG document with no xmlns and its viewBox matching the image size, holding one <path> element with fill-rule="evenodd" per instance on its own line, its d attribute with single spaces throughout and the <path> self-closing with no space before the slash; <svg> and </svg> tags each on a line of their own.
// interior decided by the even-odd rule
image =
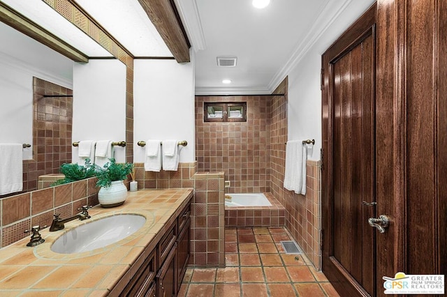
<svg viewBox="0 0 447 297">
<path fill-rule="evenodd" d="M 225 229 L 226 268 L 188 268 L 178 296 L 339 296 L 304 254 L 286 254 L 283 227 Z"/>
</svg>

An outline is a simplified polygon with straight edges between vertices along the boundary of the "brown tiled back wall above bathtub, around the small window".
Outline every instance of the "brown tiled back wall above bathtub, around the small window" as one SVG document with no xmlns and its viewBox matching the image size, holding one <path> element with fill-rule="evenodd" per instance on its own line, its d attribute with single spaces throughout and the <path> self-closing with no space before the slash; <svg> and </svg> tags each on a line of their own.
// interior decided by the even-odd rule
<svg viewBox="0 0 447 297">
<path fill-rule="evenodd" d="M 196 158 L 200 172 L 225 172 L 230 193 L 270 192 L 271 96 L 197 96 Z M 203 121 L 203 102 L 247 102 L 247 122 Z"/>
</svg>

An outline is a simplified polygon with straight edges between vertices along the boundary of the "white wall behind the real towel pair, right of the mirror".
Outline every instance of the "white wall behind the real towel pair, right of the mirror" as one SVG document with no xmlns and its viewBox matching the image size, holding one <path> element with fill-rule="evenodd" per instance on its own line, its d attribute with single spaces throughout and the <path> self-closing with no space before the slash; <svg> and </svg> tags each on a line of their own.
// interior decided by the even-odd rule
<svg viewBox="0 0 447 297">
<path fill-rule="evenodd" d="M 147 139 L 186 140 L 180 162 L 195 161 L 193 61 L 135 59 L 133 70 L 133 161 L 144 162 L 136 142 Z"/>
</svg>

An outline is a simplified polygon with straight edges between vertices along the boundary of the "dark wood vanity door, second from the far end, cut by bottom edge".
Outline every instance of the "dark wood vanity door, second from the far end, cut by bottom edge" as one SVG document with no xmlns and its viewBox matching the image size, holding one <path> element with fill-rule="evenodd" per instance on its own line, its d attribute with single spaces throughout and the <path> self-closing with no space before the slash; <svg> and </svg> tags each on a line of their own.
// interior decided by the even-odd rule
<svg viewBox="0 0 447 297">
<path fill-rule="evenodd" d="M 159 297 L 172 297 L 177 296 L 177 283 L 176 283 L 176 257 L 177 243 L 175 243 L 172 250 L 166 257 L 166 261 L 161 266 L 159 273 L 156 275 L 157 296 Z"/>
</svg>

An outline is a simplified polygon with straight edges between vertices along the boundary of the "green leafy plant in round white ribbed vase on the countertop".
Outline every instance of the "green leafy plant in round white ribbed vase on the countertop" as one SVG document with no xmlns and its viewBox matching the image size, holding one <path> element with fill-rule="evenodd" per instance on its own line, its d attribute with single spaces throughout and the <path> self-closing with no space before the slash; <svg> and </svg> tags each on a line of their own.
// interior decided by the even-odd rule
<svg viewBox="0 0 447 297">
<path fill-rule="evenodd" d="M 117 163 L 114 158 L 109 159 L 104 167 L 96 168 L 98 201 L 103 207 L 119 206 L 126 201 L 127 188 L 124 180 L 132 172 L 132 163 Z"/>
</svg>

